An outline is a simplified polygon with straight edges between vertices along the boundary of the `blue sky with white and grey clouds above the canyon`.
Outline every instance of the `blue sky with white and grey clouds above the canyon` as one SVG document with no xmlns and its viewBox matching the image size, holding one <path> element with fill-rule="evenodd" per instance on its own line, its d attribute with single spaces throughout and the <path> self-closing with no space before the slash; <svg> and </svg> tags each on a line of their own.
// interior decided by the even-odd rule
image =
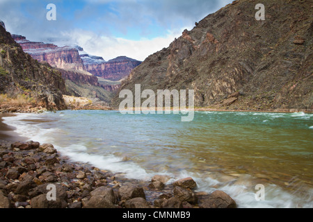
<svg viewBox="0 0 313 222">
<path fill-rule="evenodd" d="M 145 60 L 233 0 L 0 0 L 0 19 L 28 40 L 78 44 L 110 60 Z M 56 5 L 56 21 L 46 18 Z"/>
</svg>

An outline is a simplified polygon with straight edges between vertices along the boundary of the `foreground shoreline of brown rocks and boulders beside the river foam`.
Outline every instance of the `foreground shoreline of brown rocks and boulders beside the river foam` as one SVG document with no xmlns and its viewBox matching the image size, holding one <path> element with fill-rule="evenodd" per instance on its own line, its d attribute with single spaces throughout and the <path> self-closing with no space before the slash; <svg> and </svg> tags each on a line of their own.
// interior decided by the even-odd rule
<svg viewBox="0 0 313 222">
<path fill-rule="evenodd" d="M 194 191 L 192 178 L 129 180 L 61 155 L 52 144 L 0 146 L 0 208 L 227 208 L 223 191 Z M 53 189 L 51 188 L 53 187 Z M 48 200 L 51 191 L 55 199 Z"/>
</svg>

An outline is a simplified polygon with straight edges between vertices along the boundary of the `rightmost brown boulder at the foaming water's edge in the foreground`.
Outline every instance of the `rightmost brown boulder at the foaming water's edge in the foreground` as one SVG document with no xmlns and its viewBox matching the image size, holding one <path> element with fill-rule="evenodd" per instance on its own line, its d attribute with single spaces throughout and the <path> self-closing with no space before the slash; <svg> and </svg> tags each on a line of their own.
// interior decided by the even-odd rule
<svg viewBox="0 0 313 222">
<path fill-rule="evenodd" d="M 214 191 L 204 197 L 199 204 L 200 208 L 235 208 L 236 202 L 223 191 Z"/>
</svg>

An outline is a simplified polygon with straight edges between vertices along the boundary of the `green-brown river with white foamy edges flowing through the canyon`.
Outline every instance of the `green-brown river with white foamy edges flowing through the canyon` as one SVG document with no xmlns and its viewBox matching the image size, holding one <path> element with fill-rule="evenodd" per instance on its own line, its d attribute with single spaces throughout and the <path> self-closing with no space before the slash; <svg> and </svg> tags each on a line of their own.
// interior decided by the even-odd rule
<svg viewBox="0 0 313 222">
<path fill-rule="evenodd" d="M 313 114 L 203 111 L 182 122 L 180 114 L 66 110 L 3 120 L 127 178 L 191 176 L 198 191 L 223 190 L 239 207 L 313 207 Z M 257 185 L 264 200 L 255 198 Z"/>
</svg>

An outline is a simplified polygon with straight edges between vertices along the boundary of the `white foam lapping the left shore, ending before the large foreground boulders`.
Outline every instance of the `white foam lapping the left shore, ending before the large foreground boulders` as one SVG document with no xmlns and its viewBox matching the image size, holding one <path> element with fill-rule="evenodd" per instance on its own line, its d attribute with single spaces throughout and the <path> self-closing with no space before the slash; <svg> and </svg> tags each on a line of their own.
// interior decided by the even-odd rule
<svg viewBox="0 0 313 222">
<path fill-rule="evenodd" d="M 60 115 L 61 116 L 61 115 Z M 23 120 L 44 119 L 45 114 L 17 114 L 15 117 L 3 117 L 3 123 L 16 128 L 15 132 L 22 137 L 32 139 L 33 141 L 54 144 L 54 133 L 58 128 L 40 128 L 38 124 L 29 124 Z M 55 138 L 57 140 L 57 138 Z M 74 162 L 90 163 L 99 169 L 112 171 L 113 173 L 125 173 L 127 178 L 147 180 L 152 178 L 152 173 L 147 173 L 143 168 L 134 162 L 122 162 L 121 157 L 114 155 L 94 155 L 89 154 L 88 148 L 81 144 L 72 144 L 70 146 L 54 147 L 61 152 L 62 155 L 70 157 Z"/>
</svg>

